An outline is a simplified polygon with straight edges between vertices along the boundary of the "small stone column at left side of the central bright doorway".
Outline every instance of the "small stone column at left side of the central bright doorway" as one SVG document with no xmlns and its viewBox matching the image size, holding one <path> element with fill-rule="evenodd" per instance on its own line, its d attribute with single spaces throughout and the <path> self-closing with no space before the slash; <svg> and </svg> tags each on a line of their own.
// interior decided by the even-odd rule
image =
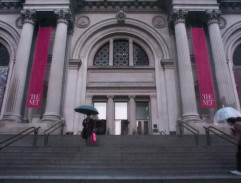
<svg viewBox="0 0 241 183">
<path fill-rule="evenodd" d="M 114 134 L 114 97 L 107 96 L 107 111 L 106 111 L 106 130 L 109 130 L 110 134 Z"/>
</svg>

